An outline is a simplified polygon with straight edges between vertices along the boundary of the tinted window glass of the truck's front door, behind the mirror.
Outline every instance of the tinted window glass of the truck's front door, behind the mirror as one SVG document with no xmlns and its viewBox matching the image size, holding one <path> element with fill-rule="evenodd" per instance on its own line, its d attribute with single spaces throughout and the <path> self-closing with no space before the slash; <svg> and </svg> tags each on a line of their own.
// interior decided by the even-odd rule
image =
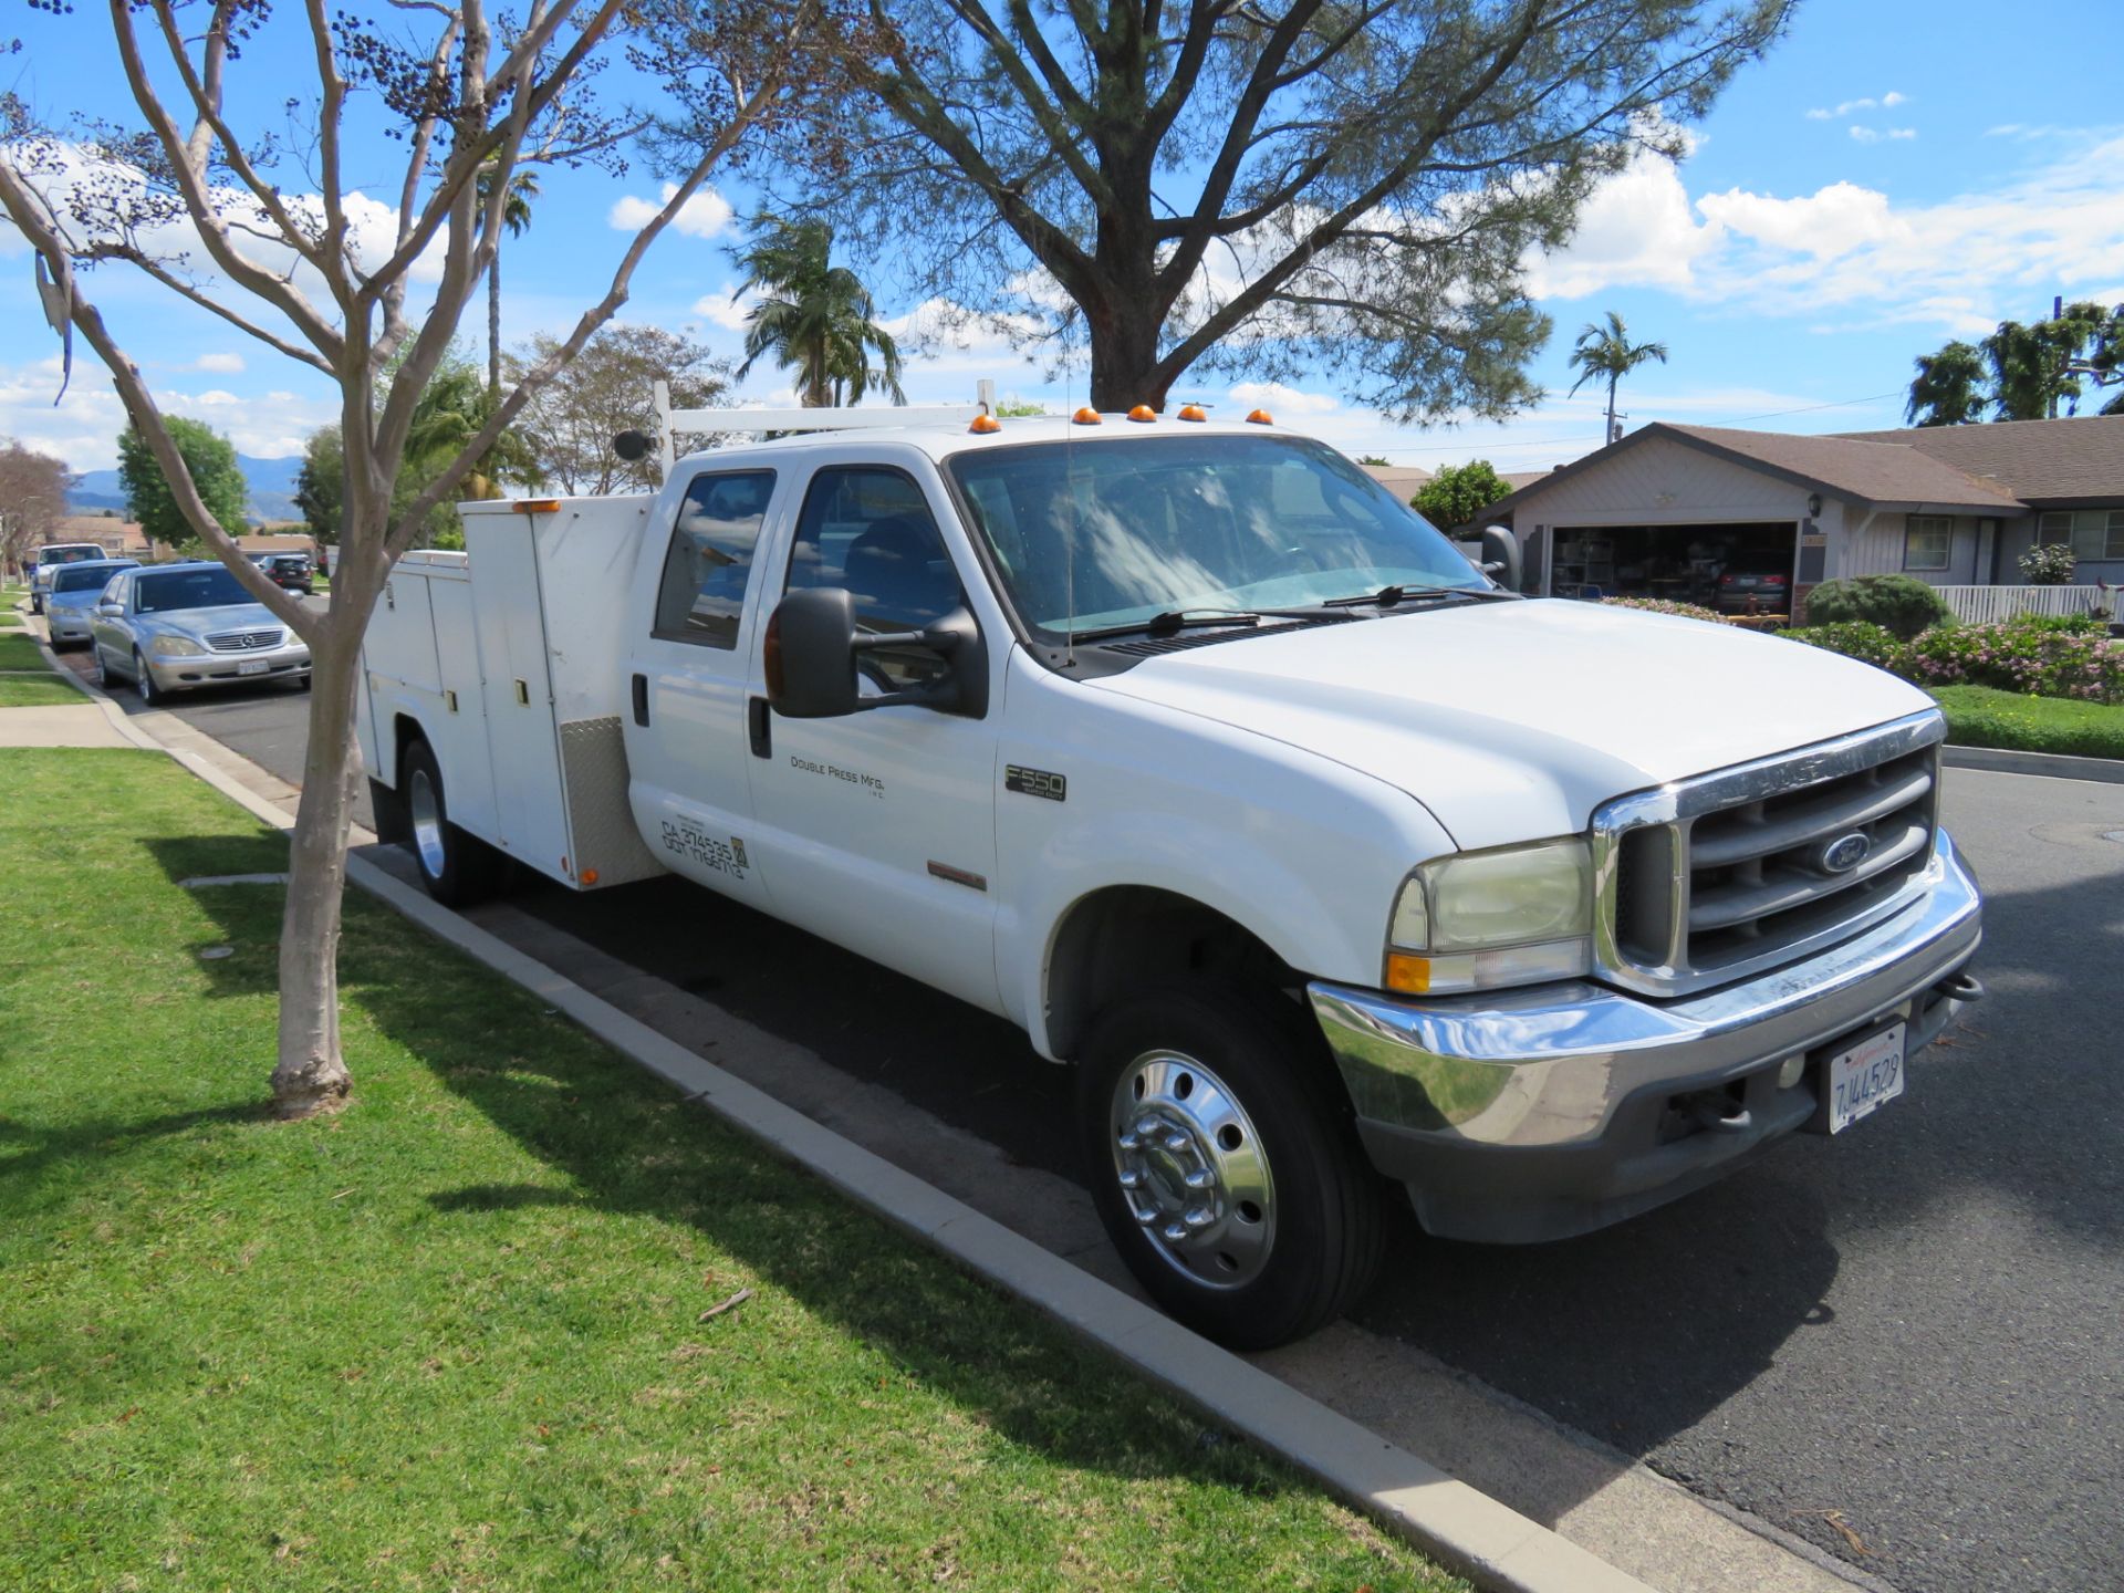
<svg viewBox="0 0 2124 1593">
<path fill-rule="evenodd" d="M 877 465 L 811 478 L 784 590 L 845 586 L 864 631 L 920 631 L 964 601 L 952 554 L 913 478 Z M 932 654 L 867 654 L 898 686 L 939 673 Z"/>
</svg>

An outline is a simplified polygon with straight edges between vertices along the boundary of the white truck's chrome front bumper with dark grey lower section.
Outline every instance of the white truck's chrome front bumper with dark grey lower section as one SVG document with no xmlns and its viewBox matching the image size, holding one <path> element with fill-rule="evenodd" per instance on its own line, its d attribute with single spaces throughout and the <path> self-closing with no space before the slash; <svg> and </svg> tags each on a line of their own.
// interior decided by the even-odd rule
<svg viewBox="0 0 2124 1593">
<path fill-rule="evenodd" d="M 1803 962 L 1678 1000 L 1574 981 L 1442 1000 L 1313 983 L 1308 994 L 1374 1164 L 1425 1226 L 1559 1238 L 1661 1204 L 1814 1117 L 1818 1066 L 1778 1066 L 1901 1020 L 1909 1049 L 1960 1005 L 1982 935 L 1975 879 L 1941 830 L 1924 894 Z M 1674 1134 L 1678 1102 L 1733 1115 Z"/>
</svg>

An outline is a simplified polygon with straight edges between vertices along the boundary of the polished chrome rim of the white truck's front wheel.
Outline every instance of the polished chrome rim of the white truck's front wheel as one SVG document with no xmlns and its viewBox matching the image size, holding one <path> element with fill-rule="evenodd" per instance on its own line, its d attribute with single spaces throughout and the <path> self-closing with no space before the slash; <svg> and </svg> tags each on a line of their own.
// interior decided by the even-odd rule
<svg viewBox="0 0 2124 1593">
<path fill-rule="evenodd" d="M 1160 1260 L 1194 1283 L 1238 1289 L 1268 1266 L 1277 1185 L 1238 1096 L 1181 1051 L 1145 1051 L 1113 1087 L 1113 1175 Z"/>
</svg>

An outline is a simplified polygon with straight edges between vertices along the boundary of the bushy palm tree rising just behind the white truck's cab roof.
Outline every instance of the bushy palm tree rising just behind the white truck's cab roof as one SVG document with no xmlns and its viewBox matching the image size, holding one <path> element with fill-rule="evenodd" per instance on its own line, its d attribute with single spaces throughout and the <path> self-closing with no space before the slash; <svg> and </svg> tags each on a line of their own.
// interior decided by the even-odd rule
<svg viewBox="0 0 2124 1593">
<path fill-rule="evenodd" d="M 871 316 L 877 304 L 852 270 L 833 263 L 833 227 L 824 221 L 780 221 L 760 217 L 752 242 L 733 251 L 746 270 L 737 289 L 765 289 L 746 316 L 743 376 L 760 355 L 796 370 L 807 410 L 828 404 L 858 404 L 881 387 L 894 404 L 901 391 L 901 350 L 892 333 Z M 879 365 L 871 365 L 869 350 Z"/>
</svg>

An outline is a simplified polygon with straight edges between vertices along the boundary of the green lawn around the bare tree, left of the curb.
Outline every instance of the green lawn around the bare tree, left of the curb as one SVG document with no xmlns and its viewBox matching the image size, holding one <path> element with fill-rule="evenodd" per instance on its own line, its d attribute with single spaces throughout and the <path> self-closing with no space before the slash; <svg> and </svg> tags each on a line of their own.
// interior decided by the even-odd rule
<svg viewBox="0 0 2124 1593">
<path fill-rule="evenodd" d="M 268 1121 L 282 860 L 0 754 L 0 1587 L 1459 1587 L 359 892 Z"/>
</svg>

